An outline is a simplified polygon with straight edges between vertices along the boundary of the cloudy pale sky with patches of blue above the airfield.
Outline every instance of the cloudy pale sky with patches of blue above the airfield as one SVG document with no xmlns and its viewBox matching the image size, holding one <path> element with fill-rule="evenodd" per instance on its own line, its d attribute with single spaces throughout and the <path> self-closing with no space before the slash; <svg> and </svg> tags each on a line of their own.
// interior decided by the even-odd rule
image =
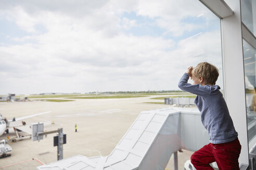
<svg viewBox="0 0 256 170">
<path fill-rule="evenodd" d="M 0 1 L 0 59 L 0 94 L 178 90 L 188 66 L 222 72 L 220 20 L 198 0 Z"/>
</svg>

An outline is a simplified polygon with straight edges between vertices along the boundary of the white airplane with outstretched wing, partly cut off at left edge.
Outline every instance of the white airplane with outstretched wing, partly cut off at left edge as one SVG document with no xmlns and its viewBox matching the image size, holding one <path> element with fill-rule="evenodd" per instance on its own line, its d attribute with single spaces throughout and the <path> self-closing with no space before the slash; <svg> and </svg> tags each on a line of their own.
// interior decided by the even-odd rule
<svg viewBox="0 0 256 170">
<path fill-rule="evenodd" d="M 46 111 L 46 112 L 42 112 L 40 114 L 34 114 L 34 115 L 30 115 L 30 116 L 24 116 L 24 117 L 20 117 L 20 118 L 13 118 L 12 120 L 7 120 L 6 118 L 4 118 L 1 114 L 0 114 L 0 136 L 2 136 L 5 132 L 8 133 L 10 127 L 14 127 L 15 131 L 25 131 L 25 125 L 26 123 L 24 121 L 20 121 L 23 119 L 27 119 L 27 118 L 32 118 L 35 116 L 39 116 L 39 115 L 44 115 L 44 114 L 48 114 L 49 112 L 52 111 Z M 17 133 L 17 131 L 16 131 Z"/>
</svg>

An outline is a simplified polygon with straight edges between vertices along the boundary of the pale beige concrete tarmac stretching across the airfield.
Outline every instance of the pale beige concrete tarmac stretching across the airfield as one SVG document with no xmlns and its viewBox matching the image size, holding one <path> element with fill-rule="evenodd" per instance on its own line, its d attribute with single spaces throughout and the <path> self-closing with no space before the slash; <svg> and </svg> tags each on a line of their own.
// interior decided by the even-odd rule
<svg viewBox="0 0 256 170">
<path fill-rule="evenodd" d="M 49 114 L 24 121 L 27 124 L 44 122 L 45 131 L 63 128 L 63 133 L 67 135 L 67 144 L 63 145 L 63 158 L 76 154 L 89 158 L 109 155 L 141 111 L 172 107 L 171 105 L 145 103 L 164 102 L 151 100 L 152 97 L 163 97 L 163 95 L 74 99 L 73 102 L 0 102 L 0 113 L 10 120 L 13 117 L 19 118 L 52 111 Z M 77 124 L 78 132 L 75 132 L 75 124 Z M 10 138 L 15 137 L 14 133 L 9 133 L 2 135 L 0 139 L 7 139 L 7 135 Z M 48 134 L 40 141 L 24 139 L 16 143 L 9 142 L 12 155 L 0 159 L 0 169 L 30 170 L 42 164 L 57 161 L 57 147 L 53 146 L 53 137 L 56 135 L 57 133 Z M 190 159 L 192 153 L 187 150 L 178 153 L 179 170 L 184 169 L 184 163 Z M 166 169 L 174 169 L 173 156 Z"/>
</svg>

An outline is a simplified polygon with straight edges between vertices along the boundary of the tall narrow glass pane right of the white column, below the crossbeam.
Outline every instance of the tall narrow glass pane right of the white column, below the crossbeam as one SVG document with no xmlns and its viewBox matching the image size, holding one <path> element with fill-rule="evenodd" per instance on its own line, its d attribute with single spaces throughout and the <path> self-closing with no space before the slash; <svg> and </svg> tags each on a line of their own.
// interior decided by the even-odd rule
<svg viewBox="0 0 256 170">
<path fill-rule="evenodd" d="M 248 140 L 250 141 L 256 135 L 256 65 L 255 49 L 247 41 L 244 44 L 244 65 L 245 65 L 245 86 L 246 86 L 246 106 L 247 106 L 247 123 L 248 123 Z"/>
</svg>

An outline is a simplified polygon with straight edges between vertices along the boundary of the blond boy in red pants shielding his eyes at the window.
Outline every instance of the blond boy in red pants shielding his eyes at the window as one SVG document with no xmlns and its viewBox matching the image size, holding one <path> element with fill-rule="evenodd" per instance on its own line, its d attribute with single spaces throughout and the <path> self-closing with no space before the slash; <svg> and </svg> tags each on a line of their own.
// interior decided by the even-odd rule
<svg viewBox="0 0 256 170">
<path fill-rule="evenodd" d="M 213 169 L 209 163 L 216 162 L 220 170 L 239 169 L 238 158 L 241 145 L 226 102 L 215 85 L 219 70 L 207 62 L 189 67 L 178 87 L 196 94 L 195 104 L 201 112 L 201 121 L 210 136 L 210 143 L 191 155 L 191 163 L 197 170 Z M 194 85 L 187 83 L 189 77 Z"/>
</svg>

